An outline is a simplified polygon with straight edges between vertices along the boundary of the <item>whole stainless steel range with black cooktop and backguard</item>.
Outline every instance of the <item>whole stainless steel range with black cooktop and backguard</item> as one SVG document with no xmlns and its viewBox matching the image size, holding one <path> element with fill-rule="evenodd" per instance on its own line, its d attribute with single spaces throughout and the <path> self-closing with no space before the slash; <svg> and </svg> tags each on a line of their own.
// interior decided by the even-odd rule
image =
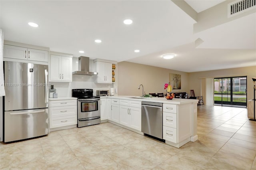
<svg viewBox="0 0 256 170">
<path fill-rule="evenodd" d="M 77 97 L 77 127 L 100 124 L 100 97 L 93 96 L 92 89 L 72 89 Z"/>
</svg>

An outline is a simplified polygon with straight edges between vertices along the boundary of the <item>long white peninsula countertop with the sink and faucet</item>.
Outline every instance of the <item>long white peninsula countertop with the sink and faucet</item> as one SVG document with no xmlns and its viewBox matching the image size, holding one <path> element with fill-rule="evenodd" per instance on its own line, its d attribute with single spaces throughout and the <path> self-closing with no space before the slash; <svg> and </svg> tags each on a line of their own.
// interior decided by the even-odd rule
<svg viewBox="0 0 256 170">
<path fill-rule="evenodd" d="M 176 104 L 182 105 L 187 103 L 198 103 L 198 99 L 172 99 L 167 100 L 165 97 L 144 97 L 143 99 L 136 99 L 131 97 L 140 97 L 140 96 L 100 96 L 100 98 L 110 98 L 110 99 L 124 99 L 124 100 L 134 100 L 134 101 L 149 101 L 149 102 L 157 102 L 157 103 L 167 103 L 167 104 Z"/>
</svg>

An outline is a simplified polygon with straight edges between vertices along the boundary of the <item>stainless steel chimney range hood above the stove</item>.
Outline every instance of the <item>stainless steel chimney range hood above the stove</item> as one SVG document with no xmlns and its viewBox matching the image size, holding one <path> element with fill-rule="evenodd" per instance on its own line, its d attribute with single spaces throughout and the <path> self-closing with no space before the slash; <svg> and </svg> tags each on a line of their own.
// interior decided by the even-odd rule
<svg viewBox="0 0 256 170">
<path fill-rule="evenodd" d="M 78 71 L 73 71 L 74 75 L 97 75 L 97 72 L 89 71 L 89 57 L 78 57 Z"/>
</svg>

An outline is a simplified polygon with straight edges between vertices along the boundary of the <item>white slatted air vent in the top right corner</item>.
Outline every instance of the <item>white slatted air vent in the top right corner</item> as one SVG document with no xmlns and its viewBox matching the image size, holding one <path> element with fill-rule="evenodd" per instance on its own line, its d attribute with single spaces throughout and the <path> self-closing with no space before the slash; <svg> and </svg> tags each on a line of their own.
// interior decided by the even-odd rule
<svg viewBox="0 0 256 170">
<path fill-rule="evenodd" d="M 228 18 L 256 7 L 256 0 L 239 0 L 228 4 Z"/>
</svg>

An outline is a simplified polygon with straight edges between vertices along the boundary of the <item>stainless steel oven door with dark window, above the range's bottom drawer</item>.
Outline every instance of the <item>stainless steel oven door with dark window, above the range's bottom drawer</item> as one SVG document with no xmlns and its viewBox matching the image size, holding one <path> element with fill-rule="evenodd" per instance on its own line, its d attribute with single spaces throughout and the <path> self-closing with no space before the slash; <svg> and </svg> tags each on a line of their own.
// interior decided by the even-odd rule
<svg viewBox="0 0 256 170">
<path fill-rule="evenodd" d="M 78 119 L 99 117 L 100 99 L 78 99 Z"/>
</svg>

